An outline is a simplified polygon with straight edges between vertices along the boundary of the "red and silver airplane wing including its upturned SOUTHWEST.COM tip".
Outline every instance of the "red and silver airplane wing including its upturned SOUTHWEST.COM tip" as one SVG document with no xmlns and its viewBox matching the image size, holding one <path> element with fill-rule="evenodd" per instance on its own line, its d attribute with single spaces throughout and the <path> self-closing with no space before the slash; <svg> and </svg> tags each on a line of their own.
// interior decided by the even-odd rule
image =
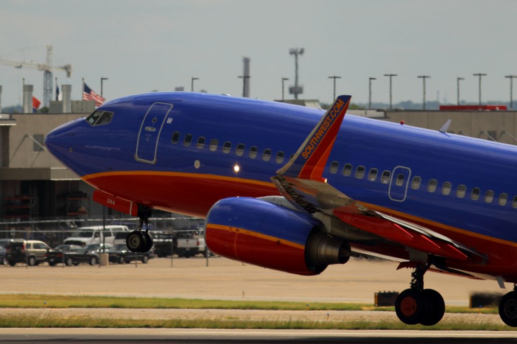
<svg viewBox="0 0 517 344">
<path fill-rule="evenodd" d="M 432 229 L 369 209 L 327 183 L 323 170 L 351 98 L 339 96 L 293 158 L 271 177 L 280 193 L 299 209 L 337 217 L 355 228 L 423 253 L 463 261 L 473 256 L 484 259 Z"/>
</svg>

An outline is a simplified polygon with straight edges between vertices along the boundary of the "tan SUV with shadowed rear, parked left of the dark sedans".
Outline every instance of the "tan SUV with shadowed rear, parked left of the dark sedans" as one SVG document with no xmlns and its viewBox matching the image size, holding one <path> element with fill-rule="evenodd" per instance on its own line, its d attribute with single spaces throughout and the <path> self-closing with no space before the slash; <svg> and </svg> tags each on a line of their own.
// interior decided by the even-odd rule
<svg viewBox="0 0 517 344">
<path fill-rule="evenodd" d="M 45 254 L 50 247 L 39 240 L 11 240 L 5 249 L 11 267 L 22 262 L 32 267 L 45 261 Z"/>
</svg>

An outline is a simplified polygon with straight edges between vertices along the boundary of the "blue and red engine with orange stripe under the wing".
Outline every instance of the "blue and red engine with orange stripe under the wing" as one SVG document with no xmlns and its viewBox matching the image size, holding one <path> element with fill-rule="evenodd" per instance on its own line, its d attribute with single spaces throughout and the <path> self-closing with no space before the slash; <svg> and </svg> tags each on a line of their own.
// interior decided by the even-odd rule
<svg viewBox="0 0 517 344">
<path fill-rule="evenodd" d="M 220 256 L 300 275 L 316 275 L 343 264 L 350 245 L 325 234 L 322 223 L 251 197 L 218 201 L 206 218 L 205 242 Z"/>
</svg>

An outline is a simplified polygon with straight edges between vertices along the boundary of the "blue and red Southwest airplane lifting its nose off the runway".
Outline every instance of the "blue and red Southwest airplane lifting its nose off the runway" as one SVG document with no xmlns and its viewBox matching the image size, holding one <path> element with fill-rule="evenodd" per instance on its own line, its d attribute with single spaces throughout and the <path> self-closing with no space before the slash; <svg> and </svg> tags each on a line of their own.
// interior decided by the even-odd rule
<svg viewBox="0 0 517 344">
<path fill-rule="evenodd" d="M 128 248 L 153 244 L 160 209 L 205 218 L 210 251 L 300 275 L 350 257 L 413 269 L 395 309 L 433 325 L 440 271 L 513 291 L 499 315 L 517 326 L 517 147 L 292 104 L 189 92 L 116 99 L 54 129 L 49 151 L 102 205 L 141 220 Z M 144 226 L 144 224 L 146 224 Z"/>
</svg>

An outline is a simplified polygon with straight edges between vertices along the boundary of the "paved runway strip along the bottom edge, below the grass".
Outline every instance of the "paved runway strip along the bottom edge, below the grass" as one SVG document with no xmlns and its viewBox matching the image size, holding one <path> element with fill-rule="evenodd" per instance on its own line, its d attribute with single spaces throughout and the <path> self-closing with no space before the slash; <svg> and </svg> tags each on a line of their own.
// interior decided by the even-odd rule
<svg viewBox="0 0 517 344">
<path fill-rule="evenodd" d="M 515 343 L 516 332 L 207 330 L 207 329 L 0 329 L 3 343 Z"/>
</svg>

